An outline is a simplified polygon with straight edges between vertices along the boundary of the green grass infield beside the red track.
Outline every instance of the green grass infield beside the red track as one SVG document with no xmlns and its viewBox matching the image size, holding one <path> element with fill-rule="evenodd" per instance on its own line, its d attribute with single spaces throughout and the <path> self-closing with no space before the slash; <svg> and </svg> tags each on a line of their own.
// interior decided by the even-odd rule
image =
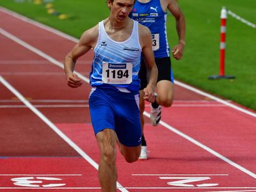
<svg viewBox="0 0 256 192">
<path fill-rule="evenodd" d="M 52 4 L 69 19 L 60 20 L 49 15 L 44 4 L 36 5 L 29 0 L 24 0 L 24 3 L 0 1 L 1 6 L 76 38 L 108 17 L 109 13 L 106 0 L 55 0 Z M 255 24 L 256 1 L 179 0 L 179 4 L 186 17 L 187 30 L 184 57 L 180 61 L 172 59 L 175 79 L 256 110 L 256 29 L 228 15 L 225 74 L 236 76 L 236 79 L 208 79 L 219 74 L 221 7 L 226 6 Z M 167 30 L 170 46 L 173 47 L 178 40 L 172 15 L 168 15 Z"/>
</svg>

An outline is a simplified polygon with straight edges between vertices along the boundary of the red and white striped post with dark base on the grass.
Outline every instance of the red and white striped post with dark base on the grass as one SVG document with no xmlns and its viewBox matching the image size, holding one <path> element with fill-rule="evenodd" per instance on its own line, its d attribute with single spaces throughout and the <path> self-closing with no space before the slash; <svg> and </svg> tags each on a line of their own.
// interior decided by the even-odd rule
<svg viewBox="0 0 256 192">
<path fill-rule="evenodd" d="M 234 76 L 225 76 L 225 48 L 226 48 L 226 23 L 227 10 L 223 6 L 221 8 L 221 26 L 220 26 L 220 74 L 218 76 L 210 76 L 209 79 L 234 79 Z"/>
</svg>

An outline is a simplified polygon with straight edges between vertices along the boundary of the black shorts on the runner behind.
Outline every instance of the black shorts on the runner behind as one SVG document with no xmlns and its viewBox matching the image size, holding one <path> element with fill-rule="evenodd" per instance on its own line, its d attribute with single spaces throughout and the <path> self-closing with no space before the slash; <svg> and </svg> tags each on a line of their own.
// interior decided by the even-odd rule
<svg viewBox="0 0 256 192">
<path fill-rule="evenodd" d="M 157 82 L 161 80 L 168 80 L 173 83 L 172 63 L 170 57 L 155 58 L 156 66 L 158 69 Z M 141 60 L 141 67 L 139 72 L 140 90 L 147 86 L 147 67 L 143 60 Z"/>
</svg>

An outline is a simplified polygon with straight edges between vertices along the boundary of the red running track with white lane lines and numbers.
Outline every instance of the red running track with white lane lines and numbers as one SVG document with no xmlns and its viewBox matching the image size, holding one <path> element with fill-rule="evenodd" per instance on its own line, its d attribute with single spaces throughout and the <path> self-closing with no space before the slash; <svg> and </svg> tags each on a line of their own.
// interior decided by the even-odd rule
<svg viewBox="0 0 256 192">
<path fill-rule="evenodd" d="M 68 88 L 63 58 L 77 41 L 0 8 L 0 191 L 100 191 L 88 111 L 92 52 Z M 150 159 L 117 158 L 117 191 L 256 191 L 255 112 L 175 81 L 152 127 Z"/>
</svg>

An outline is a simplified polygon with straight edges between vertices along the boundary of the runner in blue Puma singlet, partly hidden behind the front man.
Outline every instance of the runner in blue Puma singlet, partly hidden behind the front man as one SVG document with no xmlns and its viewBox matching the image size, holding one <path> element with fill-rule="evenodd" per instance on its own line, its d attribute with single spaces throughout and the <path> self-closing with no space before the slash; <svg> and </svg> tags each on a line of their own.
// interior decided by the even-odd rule
<svg viewBox="0 0 256 192">
<path fill-rule="evenodd" d="M 169 10 L 176 20 L 177 35 L 179 42 L 172 49 L 172 55 L 176 60 L 182 58 L 185 45 L 185 19 L 182 11 L 175 0 L 137 0 L 132 8 L 130 17 L 147 26 L 152 33 L 152 47 L 156 65 L 158 68 L 158 79 L 156 88 L 156 100 L 151 104 L 150 121 L 156 126 L 161 120 L 161 106 L 170 107 L 173 102 L 173 74 L 170 61 L 170 47 L 167 40 L 166 19 Z M 147 67 L 144 61 L 140 70 L 141 88 L 147 86 Z M 140 97 L 141 125 L 144 127 L 143 111 L 145 102 L 143 92 Z M 147 159 L 147 143 L 142 135 L 140 159 Z"/>
</svg>

